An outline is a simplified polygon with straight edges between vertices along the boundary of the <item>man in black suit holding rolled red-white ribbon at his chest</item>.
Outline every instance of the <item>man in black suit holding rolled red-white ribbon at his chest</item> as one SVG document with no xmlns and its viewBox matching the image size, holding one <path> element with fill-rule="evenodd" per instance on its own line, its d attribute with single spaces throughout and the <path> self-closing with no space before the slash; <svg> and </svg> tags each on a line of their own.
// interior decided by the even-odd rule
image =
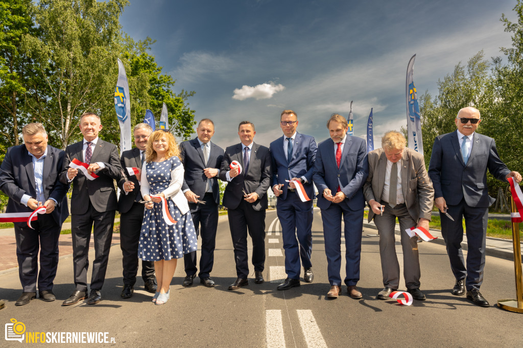
<svg viewBox="0 0 523 348">
<path fill-rule="evenodd" d="M 229 290 L 248 285 L 247 228 L 253 241 L 254 282 L 264 282 L 265 210 L 268 207 L 271 160 L 269 149 L 254 143 L 255 134 L 252 122 L 240 122 L 238 135 L 241 143 L 225 149 L 220 169 L 220 179 L 228 181 L 223 193 L 223 205 L 228 208 L 237 275 Z M 234 160 L 240 163 L 241 170 L 239 167 L 230 168 Z"/>
</svg>

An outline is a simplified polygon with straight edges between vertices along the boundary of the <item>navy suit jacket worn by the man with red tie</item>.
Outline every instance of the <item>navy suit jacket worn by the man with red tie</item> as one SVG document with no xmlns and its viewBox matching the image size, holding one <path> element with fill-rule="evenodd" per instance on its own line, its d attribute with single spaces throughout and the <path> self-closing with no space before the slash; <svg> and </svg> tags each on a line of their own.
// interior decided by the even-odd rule
<svg viewBox="0 0 523 348">
<path fill-rule="evenodd" d="M 334 142 L 331 138 L 318 144 L 314 163 L 313 180 L 319 193 L 316 205 L 321 209 L 331 206 L 323 196 L 323 190 L 331 189 L 336 194 L 338 185 L 347 198 L 339 204 L 345 204 L 350 210 L 365 207 L 363 183 L 369 174 L 367 143 L 362 138 L 347 135 L 343 146 L 342 159 L 336 164 Z"/>
</svg>

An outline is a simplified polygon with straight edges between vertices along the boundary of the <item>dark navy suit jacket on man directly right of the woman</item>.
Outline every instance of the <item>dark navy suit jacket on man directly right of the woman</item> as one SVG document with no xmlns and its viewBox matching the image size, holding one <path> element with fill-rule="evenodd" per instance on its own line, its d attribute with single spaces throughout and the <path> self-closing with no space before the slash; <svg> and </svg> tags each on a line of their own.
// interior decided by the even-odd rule
<svg viewBox="0 0 523 348">
<path fill-rule="evenodd" d="M 211 149 L 208 162 L 205 163 L 203 151 L 198 142 L 198 137 L 180 144 L 181 163 L 184 165 L 185 170 L 184 183 L 181 190 L 185 191 L 189 189 L 196 195 L 200 196 L 200 198 L 203 198 L 205 189 L 207 188 L 207 180 L 210 180 L 214 201 L 216 204 L 220 204 L 220 188 L 218 185 L 219 177 L 215 176 L 214 178 L 208 179 L 203 173 L 203 169 L 220 169 L 223 160 L 223 149 L 212 142 L 210 145 Z"/>
</svg>

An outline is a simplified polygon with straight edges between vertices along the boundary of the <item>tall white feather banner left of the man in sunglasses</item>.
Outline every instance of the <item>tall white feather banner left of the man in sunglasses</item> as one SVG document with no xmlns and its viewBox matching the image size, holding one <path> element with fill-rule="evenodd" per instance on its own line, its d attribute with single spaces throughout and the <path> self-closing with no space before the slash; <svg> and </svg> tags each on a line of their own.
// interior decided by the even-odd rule
<svg viewBox="0 0 523 348">
<path fill-rule="evenodd" d="M 408 147 L 423 155 L 423 140 L 422 140 L 422 121 L 419 115 L 418 95 L 416 87 L 414 86 L 414 60 L 416 55 L 411 57 L 407 65 L 406 78 L 406 97 L 407 97 L 407 132 L 408 132 Z"/>
</svg>

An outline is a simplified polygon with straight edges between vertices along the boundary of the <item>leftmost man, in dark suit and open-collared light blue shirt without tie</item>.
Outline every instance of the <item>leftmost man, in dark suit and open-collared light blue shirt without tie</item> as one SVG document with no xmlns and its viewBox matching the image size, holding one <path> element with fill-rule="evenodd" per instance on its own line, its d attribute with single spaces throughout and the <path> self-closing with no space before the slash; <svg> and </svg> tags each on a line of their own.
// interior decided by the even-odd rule
<svg viewBox="0 0 523 348">
<path fill-rule="evenodd" d="M 29 123 L 22 129 L 24 145 L 9 147 L 0 167 L 0 189 L 9 197 L 7 213 L 28 213 L 40 205 L 31 229 L 27 223 L 15 223 L 16 256 L 22 295 L 15 305 L 27 305 L 38 291 L 44 301 L 54 301 L 53 281 L 58 267 L 58 239 L 62 223 L 69 216 L 67 185 L 58 180 L 64 151 L 47 144 L 47 132 L 41 123 Z M 38 252 L 40 249 L 40 272 Z"/>
</svg>

